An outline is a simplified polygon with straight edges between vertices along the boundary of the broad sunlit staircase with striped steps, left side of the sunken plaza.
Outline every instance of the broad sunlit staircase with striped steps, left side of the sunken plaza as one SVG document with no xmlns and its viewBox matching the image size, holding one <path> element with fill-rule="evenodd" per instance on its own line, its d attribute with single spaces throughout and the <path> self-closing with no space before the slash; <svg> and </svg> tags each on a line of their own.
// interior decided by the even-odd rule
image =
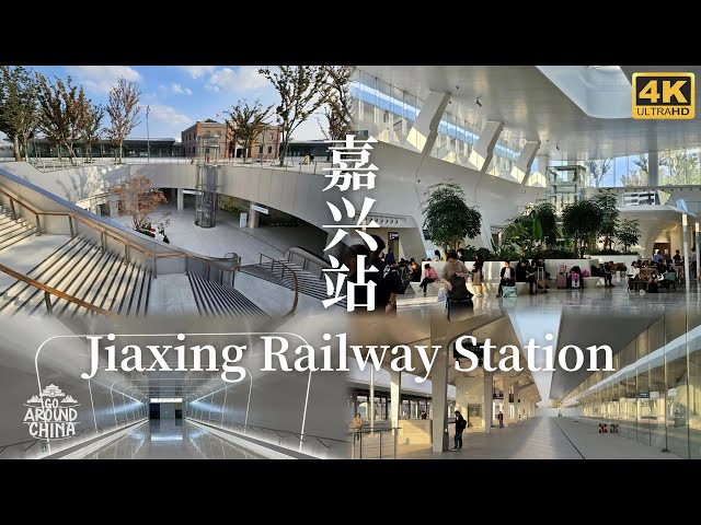
<svg viewBox="0 0 701 525">
<path fill-rule="evenodd" d="M 102 252 L 81 237 L 74 237 L 34 267 L 27 277 L 73 298 L 122 315 L 148 313 L 151 271 L 118 256 Z M 74 316 L 90 311 L 51 295 L 51 312 Z M 0 314 L 45 315 L 44 293 L 15 281 L 0 293 Z"/>
</svg>

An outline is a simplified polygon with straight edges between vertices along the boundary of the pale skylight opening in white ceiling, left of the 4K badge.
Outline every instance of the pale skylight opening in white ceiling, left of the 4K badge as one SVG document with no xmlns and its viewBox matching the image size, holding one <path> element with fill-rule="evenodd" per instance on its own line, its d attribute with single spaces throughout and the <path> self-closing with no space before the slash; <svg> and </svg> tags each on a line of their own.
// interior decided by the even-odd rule
<svg viewBox="0 0 701 525">
<path fill-rule="evenodd" d="M 594 118 L 632 118 L 631 83 L 619 66 L 536 66 Z"/>
</svg>

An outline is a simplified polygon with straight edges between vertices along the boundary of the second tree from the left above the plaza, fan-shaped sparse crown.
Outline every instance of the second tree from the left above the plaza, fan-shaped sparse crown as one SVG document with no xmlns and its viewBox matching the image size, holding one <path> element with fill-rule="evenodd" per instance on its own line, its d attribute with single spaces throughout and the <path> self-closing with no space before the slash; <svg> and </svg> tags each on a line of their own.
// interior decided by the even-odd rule
<svg viewBox="0 0 701 525">
<path fill-rule="evenodd" d="M 66 83 L 55 77 L 54 84 L 41 73 L 37 73 L 36 78 L 41 107 L 39 125 L 48 137 L 66 147 L 73 164 L 73 143 L 80 138 L 84 107 L 90 104 L 90 100 L 85 98 L 82 85 L 80 89 L 73 85 L 71 77 L 66 79 Z"/>
</svg>

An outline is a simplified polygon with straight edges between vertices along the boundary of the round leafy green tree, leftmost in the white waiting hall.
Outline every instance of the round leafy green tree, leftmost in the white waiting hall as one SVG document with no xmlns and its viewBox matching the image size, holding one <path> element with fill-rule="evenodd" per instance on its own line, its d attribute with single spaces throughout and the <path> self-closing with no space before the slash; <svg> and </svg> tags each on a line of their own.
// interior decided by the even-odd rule
<svg viewBox="0 0 701 525">
<path fill-rule="evenodd" d="M 464 192 L 455 180 L 444 180 L 426 188 L 422 205 L 424 228 L 434 244 L 457 249 L 467 238 L 474 238 L 482 228 L 480 212 L 466 205 Z"/>
</svg>

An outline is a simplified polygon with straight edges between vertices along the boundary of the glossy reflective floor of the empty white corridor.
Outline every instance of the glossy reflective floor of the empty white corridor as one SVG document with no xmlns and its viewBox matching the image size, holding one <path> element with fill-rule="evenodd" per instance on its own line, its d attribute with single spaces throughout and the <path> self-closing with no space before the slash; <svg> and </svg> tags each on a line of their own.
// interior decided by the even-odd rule
<svg viewBox="0 0 701 525">
<path fill-rule="evenodd" d="M 181 419 L 156 419 L 87 459 L 260 459 Z"/>
</svg>

